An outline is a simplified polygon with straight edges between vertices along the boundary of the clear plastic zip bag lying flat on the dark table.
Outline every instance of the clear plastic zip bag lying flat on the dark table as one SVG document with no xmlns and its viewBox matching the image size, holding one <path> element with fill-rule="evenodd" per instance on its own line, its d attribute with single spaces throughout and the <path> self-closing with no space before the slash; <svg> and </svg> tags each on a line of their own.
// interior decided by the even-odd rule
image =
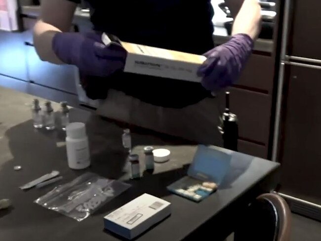
<svg viewBox="0 0 321 241">
<path fill-rule="evenodd" d="M 94 173 L 85 173 L 69 183 L 54 188 L 35 202 L 81 221 L 130 186 Z"/>
</svg>

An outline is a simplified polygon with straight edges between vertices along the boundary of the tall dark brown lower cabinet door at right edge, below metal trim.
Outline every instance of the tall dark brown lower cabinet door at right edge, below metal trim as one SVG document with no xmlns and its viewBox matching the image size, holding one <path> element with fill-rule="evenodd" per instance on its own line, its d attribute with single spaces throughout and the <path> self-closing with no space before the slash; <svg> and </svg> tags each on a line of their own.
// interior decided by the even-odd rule
<svg viewBox="0 0 321 241">
<path fill-rule="evenodd" d="M 281 191 L 321 203 L 321 70 L 286 66 Z"/>
</svg>

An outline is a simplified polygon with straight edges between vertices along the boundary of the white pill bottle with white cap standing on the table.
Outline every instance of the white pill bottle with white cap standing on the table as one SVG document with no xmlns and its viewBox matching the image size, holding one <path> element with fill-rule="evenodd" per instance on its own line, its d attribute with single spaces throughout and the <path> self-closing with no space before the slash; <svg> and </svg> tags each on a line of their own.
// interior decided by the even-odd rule
<svg viewBox="0 0 321 241">
<path fill-rule="evenodd" d="M 73 122 L 66 126 L 68 165 L 71 169 L 84 169 L 90 165 L 90 154 L 86 126 Z"/>
</svg>

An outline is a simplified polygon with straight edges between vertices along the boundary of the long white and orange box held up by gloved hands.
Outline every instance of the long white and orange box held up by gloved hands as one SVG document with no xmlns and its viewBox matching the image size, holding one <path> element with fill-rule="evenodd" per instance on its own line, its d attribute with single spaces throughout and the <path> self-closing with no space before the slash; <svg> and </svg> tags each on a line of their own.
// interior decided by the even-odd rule
<svg viewBox="0 0 321 241">
<path fill-rule="evenodd" d="M 197 70 L 205 56 L 111 39 L 102 35 L 105 45 L 117 41 L 127 51 L 124 72 L 201 82 Z"/>
</svg>

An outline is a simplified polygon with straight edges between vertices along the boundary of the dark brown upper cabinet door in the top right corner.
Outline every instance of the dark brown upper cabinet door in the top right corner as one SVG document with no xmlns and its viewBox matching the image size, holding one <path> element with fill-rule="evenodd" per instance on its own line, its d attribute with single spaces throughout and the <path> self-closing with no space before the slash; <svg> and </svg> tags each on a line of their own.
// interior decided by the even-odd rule
<svg viewBox="0 0 321 241">
<path fill-rule="evenodd" d="M 318 0 L 293 0 L 292 23 L 289 28 L 288 55 L 321 59 L 321 18 Z"/>
</svg>

